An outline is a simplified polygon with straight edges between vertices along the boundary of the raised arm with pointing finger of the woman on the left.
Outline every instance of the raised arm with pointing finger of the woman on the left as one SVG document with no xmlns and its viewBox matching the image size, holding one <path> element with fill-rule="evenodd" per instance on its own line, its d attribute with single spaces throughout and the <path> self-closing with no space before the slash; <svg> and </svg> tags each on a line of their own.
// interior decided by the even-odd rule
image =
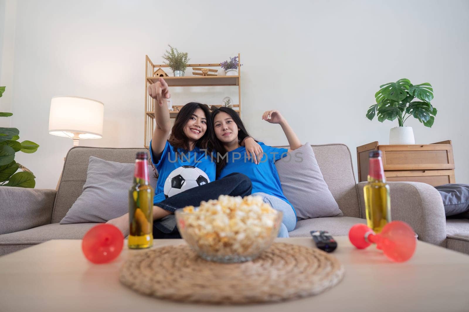
<svg viewBox="0 0 469 312">
<path fill-rule="evenodd" d="M 160 78 L 157 83 L 148 87 L 148 94 L 151 98 L 156 100 L 154 105 L 156 127 L 153 132 L 153 137 L 151 138 L 151 151 L 158 159 L 165 149 L 166 139 L 171 130 L 168 105 L 166 102 L 166 99 L 169 99 L 171 94 L 169 93 L 168 84 L 163 78 Z"/>
</svg>

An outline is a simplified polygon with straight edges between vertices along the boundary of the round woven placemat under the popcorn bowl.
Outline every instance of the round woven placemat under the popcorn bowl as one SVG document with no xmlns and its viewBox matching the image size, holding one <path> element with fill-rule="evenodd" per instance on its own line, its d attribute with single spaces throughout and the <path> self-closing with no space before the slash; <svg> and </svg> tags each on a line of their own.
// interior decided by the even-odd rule
<svg viewBox="0 0 469 312">
<path fill-rule="evenodd" d="M 330 254 L 274 243 L 254 261 L 205 261 L 187 245 L 134 254 L 121 268 L 121 283 L 145 295 L 183 302 L 247 304 L 316 295 L 344 276 Z"/>
</svg>

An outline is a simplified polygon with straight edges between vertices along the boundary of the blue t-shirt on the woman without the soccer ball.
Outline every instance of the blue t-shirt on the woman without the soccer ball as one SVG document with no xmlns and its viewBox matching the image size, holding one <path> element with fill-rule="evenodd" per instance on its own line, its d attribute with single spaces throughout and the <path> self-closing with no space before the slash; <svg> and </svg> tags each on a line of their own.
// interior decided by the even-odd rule
<svg viewBox="0 0 469 312">
<path fill-rule="evenodd" d="M 234 172 L 246 174 L 252 182 L 252 194 L 263 192 L 279 197 L 292 206 L 293 211 L 295 211 L 293 205 L 288 202 L 287 197 L 283 195 L 279 173 L 277 172 L 277 168 L 274 164 L 275 160 L 279 160 L 287 156 L 288 150 L 286 148 L 277 148 L 265 145 L 262 142 L 258 143 L 264 151 L 264 156 L 259 164 L 256 165 L 252 162 L 252 159 L 248 160 L 246 156 L 246 148 L 244 146 L 240 146 L 227 153 L 227 164 L 223 169 L 221 169 L 219 179 Z"/>
</svg>

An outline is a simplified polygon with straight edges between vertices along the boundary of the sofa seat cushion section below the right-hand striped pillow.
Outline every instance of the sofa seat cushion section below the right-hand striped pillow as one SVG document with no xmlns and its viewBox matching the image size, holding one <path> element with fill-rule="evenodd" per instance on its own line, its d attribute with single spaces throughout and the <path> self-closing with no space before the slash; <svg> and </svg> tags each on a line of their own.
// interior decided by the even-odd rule
<svg viewBox="0 0 469 312">
<path fill-rule="evenodd" d="M 353 225 L 366 224 L 366 219 L 354 217 L 331 217 L 300 220 L 295 230 L 288 232 L 290 237 L 311 237 L 310 231 L 327 231 L 333 236 L 347 236 Z"/>
</svg>

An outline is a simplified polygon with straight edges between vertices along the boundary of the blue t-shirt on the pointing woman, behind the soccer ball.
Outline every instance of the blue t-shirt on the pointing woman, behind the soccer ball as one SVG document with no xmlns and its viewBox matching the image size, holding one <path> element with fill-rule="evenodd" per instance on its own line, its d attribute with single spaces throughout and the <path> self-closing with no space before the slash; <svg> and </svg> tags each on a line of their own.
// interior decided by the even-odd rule
<svg viewBox="0 0 469 312">
<path fill-rule="evenodd" d="M 190 152 L 184 151 L 181 148 L 175 149 L 173 145 L 166 141 L 165 148 L 161 153 L 159 159 L 155 158 L 151 150 L 150 141 L 150 157 L 158 171 L 158 182 L 156 184 L 155 196 L 153 203 L 157 204 L 165 200 L 165 181 L 168 175 L 176 168 L 181 166 L 194 166 L 202 169 L 208 176 L 209 180 L 215 181 L 216 164 L 212 161 L 210 154 L 204 150 L 199 149 L 197 146 Z"/>
</svg>

